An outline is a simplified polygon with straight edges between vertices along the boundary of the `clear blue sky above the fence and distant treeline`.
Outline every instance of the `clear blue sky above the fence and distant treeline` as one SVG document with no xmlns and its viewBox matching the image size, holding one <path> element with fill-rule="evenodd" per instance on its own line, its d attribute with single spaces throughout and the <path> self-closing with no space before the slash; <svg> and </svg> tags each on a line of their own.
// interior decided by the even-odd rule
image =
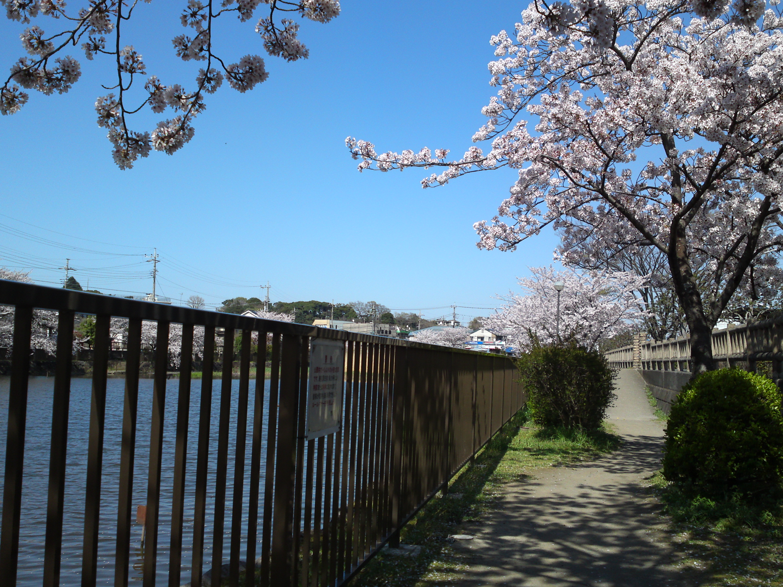
<svg viewBox="0 0 783 587">
<path fill-rule="evenodd" d="M 149 74 L 188 88 L 199 65 L 171 49 L 171 38 L 185 32 L 178 19 L 184 4 L 140 4 L 126 42 L 142 53 Z M 35 92 L 20 113 L 0 119 L 0 229 L 109 253 L 157 247 L 162 293 L 199 293 L 208 304 L 262 297 L 258 284 L 269 279 L 273 301 L 372 299 L 410 310 L 496 305 L 493 296 L 514 288 L 527 267 L 551 262 L 556 244 L 547 234 L 514 253 L 475 247 L 472 225 L 493 216 L 513 171 L 423 190 L 428 172 L 359 174 L 344 140 L 461 154 L 494 93 L 489 37 L 511 31 L 524 3 L 341 4 L 331 23 L 302 23 L 310 58 L 296 63 L 267 56 L 254 21 L 218 20 L 218 54 L 228 63 L 261 55 L 269 80 L 246 94 L 224 85 L 207 98 L 189 145 L 172 157 L 152 153 L 128 171 L 114 166 L 105 130 L 95 124 L 93 104 L 106 93 L 99 84 L 109 84 L 110 63 L 89 62 L 74 49 L 83 74 L 69 93 Z M 0 23 L 6 67 L 23 55 L 22 29 Z M 151 130 L 163 116 L 144 113 L 135 129 Z M 36 267 L 41 282 L 61 279 L 53 268 L 70 257 L 83 286 L 89 275 L 90 287 L 107 293 L 151 290 L 140 256 L 88 254 L 9 232 L 0 232 L 0 247 L 0 265 Z"/>
</svg>

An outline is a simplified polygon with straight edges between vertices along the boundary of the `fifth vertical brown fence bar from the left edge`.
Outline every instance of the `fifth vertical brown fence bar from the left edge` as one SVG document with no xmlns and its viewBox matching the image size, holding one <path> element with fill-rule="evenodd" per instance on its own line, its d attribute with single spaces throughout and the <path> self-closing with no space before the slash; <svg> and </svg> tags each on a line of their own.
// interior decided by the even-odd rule
<svg viewBox="0 0 783 587">
<path fill-rule="evenodd" d="M 147 474 L 147 505 L 144 524 L 143 587 L 155 587 L 157 567 L 157 520 L 161 513 L 161 467 L 163 466 L 163 421 L 166 413 L 168 375 L 168 322 L 157 323 L 152 420 L 150 422 L 150 468 Z"/>
</svg>

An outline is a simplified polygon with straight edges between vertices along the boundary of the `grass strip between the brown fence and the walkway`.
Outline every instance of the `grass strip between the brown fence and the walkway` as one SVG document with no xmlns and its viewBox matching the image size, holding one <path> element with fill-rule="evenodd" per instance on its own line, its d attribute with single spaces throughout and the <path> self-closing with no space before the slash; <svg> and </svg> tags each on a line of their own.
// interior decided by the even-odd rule
<svg viewBox="0 0 783 587">
<path fill-rule="evenodd" d="M 584 434 L 572 430 L 525 428 L 519 412 L 449 485 L 449 495 L 432 499 L 402 529 L 400 542 L 422 546 L 416 557 L 378 554 L 350 587 L 424 587 L 442 585 L 465 568 L 448 542 L 462 522 L 479 520 L 500 498 L 503 484 L 524 479 L 529 471 L 594 459 L 619 447 L 608 431 Z"/>
</svg>

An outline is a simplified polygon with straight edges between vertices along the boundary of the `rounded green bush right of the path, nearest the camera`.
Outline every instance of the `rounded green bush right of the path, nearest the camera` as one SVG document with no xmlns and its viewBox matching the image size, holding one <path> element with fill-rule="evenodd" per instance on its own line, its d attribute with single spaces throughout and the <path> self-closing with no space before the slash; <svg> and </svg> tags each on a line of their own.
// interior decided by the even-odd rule
<svg viewBox="0 0 783 587">
<path fill-rule="evenodd" d="M 783 474 L 781 394 L 741 369 L 702 373 L 683 387 L 666 427 L 663 475 L 693 494 L 760 495 Z"/>
</svg>

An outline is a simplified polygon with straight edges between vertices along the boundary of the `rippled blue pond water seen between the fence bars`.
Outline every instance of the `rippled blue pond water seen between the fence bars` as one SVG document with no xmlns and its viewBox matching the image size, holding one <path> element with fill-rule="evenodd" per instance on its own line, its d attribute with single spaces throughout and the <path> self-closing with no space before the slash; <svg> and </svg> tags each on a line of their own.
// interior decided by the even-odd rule
<svg viewBox="0 0 783 587">
<path fill-rule="evenodd" d="M 114 585 L 114 552 L 117 525 L 117 492 L 120 471 L 120 448 L 124 379 L 108 380 L 106 393 L 106 429 L 103 450 L 103 477 L 101 482 L 100 538 L 98 560 L 98 585 Z M 24 446 L 23 499 L 21 512 L 19 573 L 17 585 L 23 587 L 41 585 L 43 578 L 44 539 L 46 524 L 46 496 L 49 484 L 49 448 L 52 423 L 53 377 L 31 377 L 27 402 L 27 434 Z M 244 507 L 247 511 L 247 493 L 250 484 L 252 419 L 256 380 L 250 381 L 250 402 L 247 414 L 247 448 L 244 480 Z M 61 585 L 81 585 L 81 548 L 84 530 L 85 478 L 87 473 L 87 444 L 92 381 L 74 377 L 70 387 L 70 415 L 68 422 L 67 477 L 65 515 L 63 518 L 63 554 L 60 571 Z M 135 506 L 146 504 L 146 477 L 150 458 L 150 420 L 152 413 L 153 380 L 139 380 L 139 415 L 136 432 L 136 449 L 133 481 L 132 520 L 135 522 Z M 191 384 L 189 431 L 186 466 L 185 522 L 182 546 L 182 583 L 190 580 L 190 562 L 193 545 L 193 502 L 195 495 L 196 449 L 198 439 L 198 415 L 201 380 Z M 226 524 L 223 558 L 229 556 L 230 503 L 233 495 L 233 466 L 236 452 L 236 408 L 239 380 L 233 380 L 231 402 L 231 430 L 229 434 L 229 479 L 226 488 Z M 171 495 L 174 474 L 175 424 L 179 380 L 168 380 L 164 414 L 163 471 L 161 475 L 161 512 L 157 554 L 157 585 L 168 585 L 168 556 L 171 540 Z M 5 442 L 8 427 L 9 378 L 0 377 L 0 471 L 5 471 Z M 204 571 L 211 562 L 211 537 L 215 495 L 215 465 L 218 442 L 218 413 L 220 381 L 213 382 L 210 429 L 210 459 L 207 482 L 207 523 L 205 526 Z M 262 430 L 262 479 L 264 465 L 266 425 L 269 410 L 269 380 L 264 387 L 264 414 Z M 0 484 L 0 504 L 2 504 Z M 263 503 L 263 495 L 261 495 Z M 262 507 L 262 505 L 261 505 Z M 131 582 L 142 578 L 141 529 L 132 525 Z M 242 556 L 245 558 L 247 517 L 244 518 Z M 260 541 L 260 514 L 259 514 Z"/>
</svg>

